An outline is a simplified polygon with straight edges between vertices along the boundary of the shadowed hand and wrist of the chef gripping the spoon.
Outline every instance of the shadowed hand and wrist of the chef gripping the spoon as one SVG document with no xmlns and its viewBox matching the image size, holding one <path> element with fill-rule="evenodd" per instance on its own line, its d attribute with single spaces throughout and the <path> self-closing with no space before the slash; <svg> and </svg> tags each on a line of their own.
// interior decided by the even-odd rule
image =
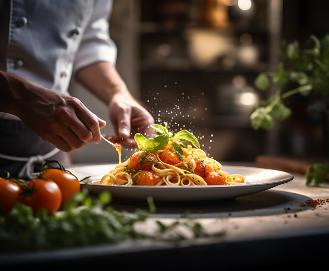
<svg viewBox="0 0 329 271">
<path fill-rule="evenodd" d="M 38 137 L 63 152 L 101 142 L 106 122 L 91 113 L 74 97 L 46 89 L 27 79 L 6 74 L 15 93 L 12 112 Z"/>
</svg>

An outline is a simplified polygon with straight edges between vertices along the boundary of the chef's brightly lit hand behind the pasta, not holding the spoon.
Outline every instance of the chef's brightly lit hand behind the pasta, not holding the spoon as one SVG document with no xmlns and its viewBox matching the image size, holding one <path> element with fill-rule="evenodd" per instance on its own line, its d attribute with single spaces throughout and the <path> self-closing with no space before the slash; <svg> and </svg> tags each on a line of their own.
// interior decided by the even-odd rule
<svg viewBox="0 0 329 271">
<path fill-rule="evenodd" d="M 154 133 L 150 127 L 154 124 L 153 117 L 138 104 L 129 93 L 115 94 L 109 104 L 110 120 L 119 137 L 123 138 L 122 144 L 126 148 L 136 147 L 133 138 L 136 133 L 141 133 L 149 138 Z"/>
</svg>

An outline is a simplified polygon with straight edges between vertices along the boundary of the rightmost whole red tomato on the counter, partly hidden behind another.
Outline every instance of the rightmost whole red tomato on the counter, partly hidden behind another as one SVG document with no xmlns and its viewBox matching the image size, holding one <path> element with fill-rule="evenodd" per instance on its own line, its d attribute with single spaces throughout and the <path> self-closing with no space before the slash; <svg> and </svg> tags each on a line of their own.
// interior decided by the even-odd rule
<svg viewBox="0 0 329 271">
<path fill-rule="evenodd" d="M 44 178 L 55 182 L 62 192 L 62 205 L 64 205 L 70 198 L 78 191 L 80 191 L 80 182 L 78 178 L 66 171 L 60 169 L 46 169 L 42 172 Z"/>
</svg>

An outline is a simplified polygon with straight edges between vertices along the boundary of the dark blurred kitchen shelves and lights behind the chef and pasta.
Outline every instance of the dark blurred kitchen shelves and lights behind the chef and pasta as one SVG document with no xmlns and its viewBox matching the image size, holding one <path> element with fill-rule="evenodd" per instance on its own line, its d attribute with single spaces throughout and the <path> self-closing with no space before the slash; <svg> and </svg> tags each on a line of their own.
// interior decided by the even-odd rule
<svg viewBox="0 0 329 271">
<path fill-rule="evenodd" d="M 310 34 L 323 38 L 328 10 L 328 0 L 114 0 L 110 36 L 120 75 L 156 123 L 192 131 L 215 159 L 321 161 L 321 122 L 308 112 L 312 96 L 287 99 L 292 116 L 270 131 L 252 130 L 249 116 L 276 91 L 260 92 L 253 82 L 260 72 L 275 71 L 281 39 L 306 44 Z M 107 121 L 104 133 L 114 135 L 106 105 L 74 80 L 69 91 Z M 131 153 L 124 150 L 123 158 Z M 118 161 L 104 142 L 71 156 L 74 163 Z"/>
</svg>

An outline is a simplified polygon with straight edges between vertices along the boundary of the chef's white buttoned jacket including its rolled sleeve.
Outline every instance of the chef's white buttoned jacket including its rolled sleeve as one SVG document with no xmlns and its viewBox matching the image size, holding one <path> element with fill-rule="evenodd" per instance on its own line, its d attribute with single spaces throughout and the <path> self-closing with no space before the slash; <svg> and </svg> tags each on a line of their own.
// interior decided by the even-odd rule
<svg viewBox="0 0 329 271">
<path fill-rule="evenodd" d="M 111 10 L 112 0 L 11 0 L 6 58 L 0 67 L 68 94 L 71 76 L 79 69 L 100 61 L 115 64 Z M 1 112 L 0 117 L 17 118 Z"/>
</svg>

